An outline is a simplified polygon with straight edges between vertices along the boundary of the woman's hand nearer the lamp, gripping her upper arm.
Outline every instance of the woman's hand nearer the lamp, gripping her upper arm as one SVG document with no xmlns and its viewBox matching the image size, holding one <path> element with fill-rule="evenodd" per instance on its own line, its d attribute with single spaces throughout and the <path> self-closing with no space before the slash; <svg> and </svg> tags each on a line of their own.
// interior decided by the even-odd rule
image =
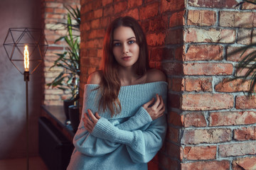
<svg viewBox="0 0 256 170">
<path fill-rule="evenodd" d="M 97 121 L 100 119 L 100 115 L 96 112 L 95 115 L 93 115 L 92 111 L 90 109 L 87 110 L 87 113 L 85 114 L 85 118 L 82 118 L 82 121 L 85 126 L 85 130 L 88 132 L 92 132 L 93 128 L 95 128 L 95 125 Z"/>
</svg>

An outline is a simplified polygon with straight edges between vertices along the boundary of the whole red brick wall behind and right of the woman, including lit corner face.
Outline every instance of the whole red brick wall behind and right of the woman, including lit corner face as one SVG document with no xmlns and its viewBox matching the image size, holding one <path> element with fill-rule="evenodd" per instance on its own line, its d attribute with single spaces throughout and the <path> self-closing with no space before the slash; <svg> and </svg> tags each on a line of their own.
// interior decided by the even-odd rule
<svg viewBox="0 0 256 170">
<path fill-rule="evenodd" d="M 255 39 L 255 6 L 235 0 L 81 0 L 81 86 L 99 68 L 107 23 L 136 18 L 149 44 L 151 67 L 169 79 L 168 132 L 149 169 L 253 169 L 255 98 L 227 82 L 238 55 Z M 247 10 L 252 8 L 252 11 Z M 241 40 L 242 36 L 247 36 Z M 81 94 L 83 91 L 81 91 Z"/>
</svg>

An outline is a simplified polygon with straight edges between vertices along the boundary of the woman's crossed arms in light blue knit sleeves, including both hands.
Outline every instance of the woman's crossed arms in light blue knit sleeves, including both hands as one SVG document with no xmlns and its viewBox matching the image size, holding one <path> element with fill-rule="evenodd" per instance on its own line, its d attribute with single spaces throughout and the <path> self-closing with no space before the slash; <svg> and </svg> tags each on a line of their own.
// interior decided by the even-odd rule
<svg viewBox="0 0 256 170">
<path fill-rule="evenodd" d="M 164 109 L 163 99 L 156 95 L 156 102 L 151 99 L 129 120 L 116 126 L 87 110 L 88 115 L 85 113 L 82 118 L 84 127 L 78 131 L 74 145 L 91 157 L 111 153 L 125 145 L 134 162 L 149 162 L 161 148 L 166 134 Z"/>
</svg>

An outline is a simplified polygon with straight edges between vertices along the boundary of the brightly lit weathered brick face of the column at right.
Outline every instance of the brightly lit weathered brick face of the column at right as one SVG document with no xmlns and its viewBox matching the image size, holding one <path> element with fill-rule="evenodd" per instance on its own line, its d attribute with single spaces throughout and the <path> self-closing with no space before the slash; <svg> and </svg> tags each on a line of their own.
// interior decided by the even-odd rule
<svg viewBox="0 0 256 170">
<path fill-rule="evenodd" d="M 183 33 L 181 169 L 255 169 L 255 102 L 227 81 L 252 42 L 255 11 L 236 1 L 188 0 Z M 245 39 L 242 39 L 246 36 Z M 246 146 L 246 147 L 245 147 Z M 254 168 L 253 168 L 254 167 Z"/>
</svg>

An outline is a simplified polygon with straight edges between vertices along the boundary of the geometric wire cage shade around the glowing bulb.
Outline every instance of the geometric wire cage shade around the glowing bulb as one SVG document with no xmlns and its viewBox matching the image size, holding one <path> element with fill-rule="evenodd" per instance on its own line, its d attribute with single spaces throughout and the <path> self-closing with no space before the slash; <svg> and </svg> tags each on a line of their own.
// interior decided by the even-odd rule
<svg viewBox="0 0 256 170">
<path fill-rule="evenodd" d="M 24 53 L 27 45 L 28 69 L 24 69 Z M 4 40 L 4 49 L 12 64 L 21 74 L 25 71 L 33 74 L 38 66 L 43 62 L 46 55 L 48 42 L 43 36 L 40 28 L 9 28 Z"/>
</svg>

